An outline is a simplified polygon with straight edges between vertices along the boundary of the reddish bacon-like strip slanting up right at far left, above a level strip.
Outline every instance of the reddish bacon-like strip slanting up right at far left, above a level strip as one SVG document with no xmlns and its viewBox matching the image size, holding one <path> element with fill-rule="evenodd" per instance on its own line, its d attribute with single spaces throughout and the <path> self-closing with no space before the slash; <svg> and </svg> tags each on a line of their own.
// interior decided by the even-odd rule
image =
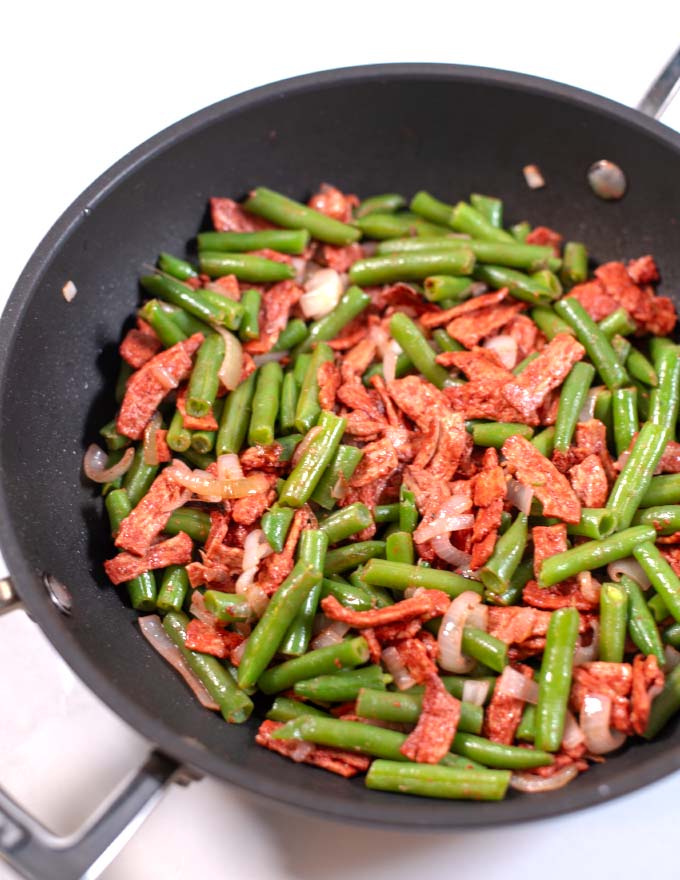
<svg viewBox="0 0 680 880">
<path fill-rule="evenodd" d="M 191 491 L 162 471 L 139 504 L 120 524 L 116 547 L 143 556 L 165 528 L 173 510 L 191 498 Z"/>
</svg>

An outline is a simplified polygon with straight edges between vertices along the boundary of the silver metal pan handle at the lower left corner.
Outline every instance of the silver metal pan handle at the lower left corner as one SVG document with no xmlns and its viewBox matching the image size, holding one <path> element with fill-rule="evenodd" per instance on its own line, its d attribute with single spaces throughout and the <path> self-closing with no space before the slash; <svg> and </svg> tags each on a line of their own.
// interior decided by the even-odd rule
<svg viewBox="0 0 680 880">
<path fill-rule="evenodd" d="M 0 614 L 21 608 L 9 578 L 0 579 Z M 78 831 L 59 837 L 0 787 L 0 857 L 29 880 L 94 880 L 156 806 L 170 782 L 189 774 L 152 751 L 132 777 Z"/>
</svg>

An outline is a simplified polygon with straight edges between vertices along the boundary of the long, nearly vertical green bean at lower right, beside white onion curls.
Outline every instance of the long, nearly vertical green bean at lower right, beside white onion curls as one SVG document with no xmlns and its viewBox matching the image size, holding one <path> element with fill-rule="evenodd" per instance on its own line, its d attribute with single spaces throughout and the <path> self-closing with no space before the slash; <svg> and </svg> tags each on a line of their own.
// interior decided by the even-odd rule
<svg viewBox="0 0 680 880">
<path fill-rule="evenodd" d="M 558 608 L 550 617 L 536 704 L 538 749 L 556 752 L 562 743 L 578 627 L 575 608 Z"/>
</svg>

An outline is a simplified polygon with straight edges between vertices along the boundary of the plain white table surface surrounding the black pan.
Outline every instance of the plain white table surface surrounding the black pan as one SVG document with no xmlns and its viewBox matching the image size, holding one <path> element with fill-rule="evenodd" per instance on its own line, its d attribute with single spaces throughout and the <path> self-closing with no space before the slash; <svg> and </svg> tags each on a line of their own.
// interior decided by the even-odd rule
<svg viewBox="0 0 680 880">
<path fill-rule="evenodd" d="M 523 71 L 633 105 L 680 39 L 680 7 L 659 0 L 335 7 L 12 4 L 0 53 L 0 307 L 44 233 L 91 180 L 223 97 L 313 70 L 439 61 Z M 680 129 L 680 99 L 664 121 Z M 21 613 L 0 621 L 0 669 L 0 783 L 55 830 L 72 830 L 148 743 L 84 688 Z M 553 880 L 650 869 L 673 877 L 679 800 L 675 774 L 537 825 L 412 836 L 301 819 L 206 779 L 170 791 L 103 876 L 411 880 L 444 869 L 463 880 L 505 880 L 529 868 Z M 0 864 L 0 880 L 14 876 Z"/>
</svg>

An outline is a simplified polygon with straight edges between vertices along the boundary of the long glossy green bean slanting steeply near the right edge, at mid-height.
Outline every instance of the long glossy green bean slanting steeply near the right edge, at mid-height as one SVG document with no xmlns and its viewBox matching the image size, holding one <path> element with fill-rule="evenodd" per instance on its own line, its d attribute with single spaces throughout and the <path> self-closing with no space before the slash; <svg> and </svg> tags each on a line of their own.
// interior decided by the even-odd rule
<svg viewBox="0 0 680 880">
<path fill-rule="evenodd" d="M 656 466 L 666 448 L 668 428 L 646 422 L 640 429 L 628 461 L 609 493 L 607 508 L 620 529 L 627 528 L 651 482 Z"/>
</svg>

